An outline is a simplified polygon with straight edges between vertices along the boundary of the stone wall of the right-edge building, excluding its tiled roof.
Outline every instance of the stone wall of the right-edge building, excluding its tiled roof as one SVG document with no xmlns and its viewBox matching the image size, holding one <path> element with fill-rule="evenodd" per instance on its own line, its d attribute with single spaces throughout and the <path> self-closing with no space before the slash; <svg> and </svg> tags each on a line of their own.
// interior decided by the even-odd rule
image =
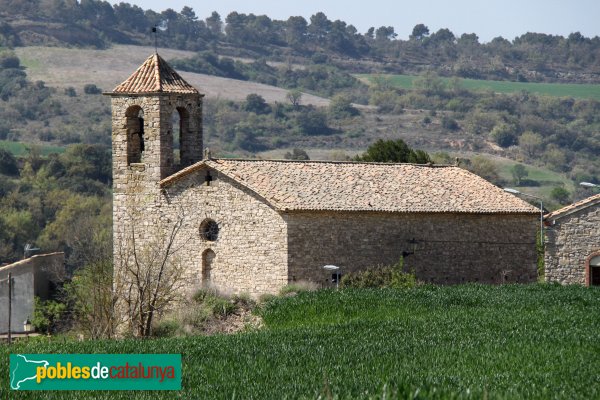
<svg viewBox="0 0 600 400">
<path fill-rule="evenodd" d="M 546 238 L 546 281 L 586 284 L 587 262 L 600 254 L 600 206 L 561 216 Z"/>
</svg>

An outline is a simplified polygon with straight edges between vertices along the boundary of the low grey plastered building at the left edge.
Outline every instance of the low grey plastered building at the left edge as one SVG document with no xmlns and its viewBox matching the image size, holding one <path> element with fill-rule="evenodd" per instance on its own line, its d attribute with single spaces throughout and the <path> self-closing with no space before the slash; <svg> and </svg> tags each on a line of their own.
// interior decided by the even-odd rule
<svg viewBox="0 0 600 400">
<path fill-rule="evenodd" d="M 64 253 L 41 254 L 0 268 L 0 333 L 8 332 L 8 273 L 12 274 L 12 331 L 22 332 L 23 321 L 33 318 L 34 297 L 52 295 L 64 278 Z"/>
</svg>

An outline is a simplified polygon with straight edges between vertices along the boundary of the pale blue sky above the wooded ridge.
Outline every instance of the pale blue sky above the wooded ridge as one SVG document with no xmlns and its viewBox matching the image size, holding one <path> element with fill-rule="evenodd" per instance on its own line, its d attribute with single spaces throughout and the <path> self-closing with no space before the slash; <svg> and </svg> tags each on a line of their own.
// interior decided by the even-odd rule
<svg viewBox="0 0 600 400">
<path fill-rule="evenodd" d="M 340 19 L 359 32 L 369 27 L 393 26 L 398 38 L 407 39 L 419 23 L 430 32 L 450 29 L 456 36 L 476 33 L 480 42 L 497 36 L 512 40 L 527 32 L 568 36 L 600 36 L 599 0 L 121 0 L 143 9 L 163 11 L 184 6 L 200 19 L 217 11 L 223 20 L 232 11 L 268 15 L 271 19 L 310 16 L 322 11 L 330 20 Z M 116 4 L 120 1 L 111 1 Z"/>
</svg>

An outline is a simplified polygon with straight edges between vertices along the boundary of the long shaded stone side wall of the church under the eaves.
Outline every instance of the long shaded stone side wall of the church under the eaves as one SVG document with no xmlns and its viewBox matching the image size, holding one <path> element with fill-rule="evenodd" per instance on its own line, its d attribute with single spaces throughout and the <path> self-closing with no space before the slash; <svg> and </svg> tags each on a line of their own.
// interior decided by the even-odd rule
<svg viewBox="0 0 600 400">
<path fill-rule="evenodd" d="M 288 213 L 289 279 L 330 284 L 341 272 L 396 263 L 425 282 L 535 282 L 535 215 Z M 412 239 L 415 239 L 414 241 Z"/>
</svg>

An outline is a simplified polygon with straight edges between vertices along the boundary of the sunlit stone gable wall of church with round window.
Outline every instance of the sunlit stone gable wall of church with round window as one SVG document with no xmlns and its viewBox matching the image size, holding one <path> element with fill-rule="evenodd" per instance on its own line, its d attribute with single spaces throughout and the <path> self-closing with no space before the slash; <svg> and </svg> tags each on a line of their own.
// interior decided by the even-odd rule
<svg viewBox="0 0 600 400">
<path fill-rule="evenodd" d="M 185 266 L 186 291 L 207 283 L 202 282 L 202 271 L 208 261 L 211 286 L 253 295 L 277 292 L 287 284 L 285 221 L 248 189 L 216 171 L 211 171 L 212 181 L 206 185 L 205 173 L 197 171 L 164 190 L 156 187 L 153 195 L 136 204 L 141 216 L 136 222 L 115 224 L 120 230 L 118 237 L 126 237 L 123 229 L 136 223 L 137 245 L 154 246 L 160 230 L 168 231 L 174 221 L 183 218 L 174 259 Z M 201 224 L 207 219 L 218 225 L 215 241 L 201 234 Z M 212 253 L 207 253 L 209 250 Z"/>
</svg>

